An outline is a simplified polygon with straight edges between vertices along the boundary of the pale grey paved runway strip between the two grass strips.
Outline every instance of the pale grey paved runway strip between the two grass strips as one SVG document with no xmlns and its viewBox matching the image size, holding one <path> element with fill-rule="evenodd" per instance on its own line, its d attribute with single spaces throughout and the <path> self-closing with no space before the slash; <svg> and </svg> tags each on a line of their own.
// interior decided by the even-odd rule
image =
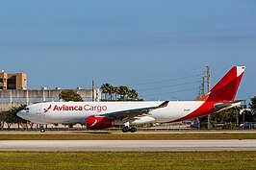
<svg viewBox="0 0 256 170">
<path fill-rule="evenodd" d="M 202 152 L 256 151 L 256 140 L 2 140 L 0 151 Z"/>
</svg>

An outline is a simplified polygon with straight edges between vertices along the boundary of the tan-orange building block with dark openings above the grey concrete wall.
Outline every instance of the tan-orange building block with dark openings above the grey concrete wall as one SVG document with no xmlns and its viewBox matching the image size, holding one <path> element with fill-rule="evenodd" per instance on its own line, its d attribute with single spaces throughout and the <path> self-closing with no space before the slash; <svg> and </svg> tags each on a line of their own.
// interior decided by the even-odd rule
<svg viewBox="0 0 256 170">
<path fill-rule="evenodd" d="M 0 73 L 0 90 L 27 89 L 27 74 Z"/>
</svg>

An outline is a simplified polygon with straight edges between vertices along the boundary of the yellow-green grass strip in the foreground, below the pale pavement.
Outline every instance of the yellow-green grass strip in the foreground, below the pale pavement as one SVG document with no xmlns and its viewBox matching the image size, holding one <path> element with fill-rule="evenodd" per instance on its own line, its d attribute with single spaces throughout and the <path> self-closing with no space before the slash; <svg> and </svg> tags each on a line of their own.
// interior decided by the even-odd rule
<svg viewBox="0 0 256 170">
<path fill-rule="evenodd" d="M 25 169 L 256 169 L 256 152 L 0 152 L 0 167 Z"/>
</svg>

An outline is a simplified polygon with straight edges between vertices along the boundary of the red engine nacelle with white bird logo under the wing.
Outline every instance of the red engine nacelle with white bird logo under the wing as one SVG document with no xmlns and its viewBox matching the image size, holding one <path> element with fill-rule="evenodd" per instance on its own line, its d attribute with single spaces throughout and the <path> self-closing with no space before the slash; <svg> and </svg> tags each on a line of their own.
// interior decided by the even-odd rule
<svg viewBox="0 0 256 170">
<path fill-rule="evenodd" d="M 88 117 L 87 129 L 89 130 L 101 130 L 105 128 L 113 127 L 113 121 L 104 117 Z"/>
</svg>

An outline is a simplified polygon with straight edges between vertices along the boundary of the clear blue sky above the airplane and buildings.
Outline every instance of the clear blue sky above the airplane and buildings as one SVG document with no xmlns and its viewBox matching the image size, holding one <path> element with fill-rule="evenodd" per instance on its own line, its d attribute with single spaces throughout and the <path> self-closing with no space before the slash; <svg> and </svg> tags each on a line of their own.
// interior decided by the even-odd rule
<svg viewBox="0 0 256 170">
<path fill-rule="evenodd" d="M 245 65 L 237 99 L 256 95 L 254 0 L 3 0 L 0 69 L 28 88 L 127 85 L 144 100 L 194 100 Z"/>
</svg>

